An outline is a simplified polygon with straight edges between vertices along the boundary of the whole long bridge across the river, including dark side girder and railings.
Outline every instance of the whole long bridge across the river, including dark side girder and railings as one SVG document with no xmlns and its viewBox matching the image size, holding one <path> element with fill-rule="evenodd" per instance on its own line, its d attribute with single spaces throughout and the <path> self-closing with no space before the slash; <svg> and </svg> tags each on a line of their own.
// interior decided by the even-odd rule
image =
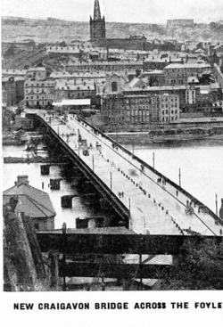
<svg viewBox="0 0 223 327">
<path fill-rule="evenodd" d="M 76 115 L 27 112 L 134 233 L 222 235 L 210 208 Z"/>
</svg>

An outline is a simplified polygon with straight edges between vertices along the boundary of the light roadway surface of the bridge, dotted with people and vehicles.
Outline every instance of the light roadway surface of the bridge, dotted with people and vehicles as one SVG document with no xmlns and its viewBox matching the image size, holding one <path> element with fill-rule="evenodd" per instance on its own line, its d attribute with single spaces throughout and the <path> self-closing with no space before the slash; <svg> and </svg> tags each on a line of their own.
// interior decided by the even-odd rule
<svg viewBox="0 0 223 327">
<path fill-rule="evenodd" d="M 120 197 L 121 202 L 130 210 L 130 228 L 134 232 L 177 235 L 187 234 L 191 230 L 203 235 L 221 233 L 222 225 L 216 222 L 216 217 L 210 212 L 203 212 L 200 205 L 193 203 L 192 213 L 186 213 L 192 196 L 178 190 L 168 179 L 161 178 L 152 169 L 142 167 L 135 156 L 114 145 L 103 133 L 96 132 L 86 122 L 72 115 L 67 116 L 66 122 L 58 116 L 42 114 L 41 117 L 56 133 L 59 132 L 60 137 L 79 158 Z M 78 143 L 78 135 L 87 141 L 87 145 Z M 89 156 L 84 155 L 86 149 Z M 123 196 L 120 196 L 120 192 L 123 192 Z"/>
</svg>

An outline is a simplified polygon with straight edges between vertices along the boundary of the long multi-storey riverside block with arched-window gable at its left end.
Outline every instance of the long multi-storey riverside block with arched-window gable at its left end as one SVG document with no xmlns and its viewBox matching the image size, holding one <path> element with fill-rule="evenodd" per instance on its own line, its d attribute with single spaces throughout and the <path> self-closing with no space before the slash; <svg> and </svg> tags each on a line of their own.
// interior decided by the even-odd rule
<svg viewBox="0 0 223 327">
<path fill-rule="evenodd" d="M 101 89 L 101 113 L 107 125 L 168 124 L 179 118 L 179 96 L 125 90 L 125 80 L 113 74 Z"/>
</svg>

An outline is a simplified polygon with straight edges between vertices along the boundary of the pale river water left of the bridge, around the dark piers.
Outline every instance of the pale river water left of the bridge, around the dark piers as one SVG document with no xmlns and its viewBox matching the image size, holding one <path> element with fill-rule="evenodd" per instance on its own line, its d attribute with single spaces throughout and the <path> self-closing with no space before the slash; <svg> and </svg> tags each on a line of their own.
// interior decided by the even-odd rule
<svg viewBox="0 0 223 327">
<path fill-rule="evenodd" d="M 4 146 L 4 157 L 26 157 L 26 145 L 22 146 Z M 47 153 L 46 153 L 47 154 Z M 45 153 L 41 153 L 45 156 Z M 87 204 L 83 198 L 75 197 L 73 199 L 72 208 L 61 208 L 62 195 L 77 194 L 78 190 L 71 187 L 70 183 L 64 179 L 61 181 L 60 191 L 51 190 L 48 187 L 50 178 L 60 178 L 61 169 L 58 166 L 51 166 L 49 176 L 41 176 L 39 163 L 31 164 L 4 164 L 3 168 L 3 189 L 7 190 L 12 187 L 17 180 L 18 175 L 28 175 L 29 184 L 42 190 L 42 182 L 44 182 L 44 192 L 47 192 L 52 200 L 54 209 L 56 211 L 55 228 L 61 228 L 62 223 L 65 222 L 69 228 L 76 227 L 76 218 L 102 216 L 96 208 Z"/>
</svg>

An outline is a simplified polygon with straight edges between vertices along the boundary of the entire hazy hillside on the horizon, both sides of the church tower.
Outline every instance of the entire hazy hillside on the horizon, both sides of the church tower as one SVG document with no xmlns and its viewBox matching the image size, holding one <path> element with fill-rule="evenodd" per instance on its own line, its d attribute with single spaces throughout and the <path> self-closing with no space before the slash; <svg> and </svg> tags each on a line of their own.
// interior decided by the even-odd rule
<svg viewBox="0 0 223 327">
<path fill-rule="evenodd" d="M 106 22 L 106 37 L 129 37 L 145 35 L 148 39 L 171 37 L 178 40 L 192 39 L 222 40 L 222 26 L 211 24 L 195 24 L 192 29 L 173 29 L 167 34 L 166 26 L 157 24 Z M 88 21 L 69 21 L 55 18 L 45 20 L 23 17 L 2 17 L 2 40 L 13 41 L 24 38 L 33 39 L 37 43 L 54 43 L 57 41 L 89 39 Z"/>
</svg>

